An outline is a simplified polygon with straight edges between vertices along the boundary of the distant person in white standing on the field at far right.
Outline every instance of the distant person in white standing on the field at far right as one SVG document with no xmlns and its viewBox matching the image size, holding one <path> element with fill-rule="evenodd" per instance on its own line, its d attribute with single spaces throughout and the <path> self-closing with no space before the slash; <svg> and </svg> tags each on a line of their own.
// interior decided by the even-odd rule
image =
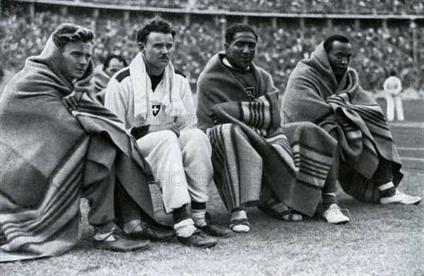
<svg viewBox="0 0 424 276">
<path fill-rule="evenodd" d="M 402 83 L 396 76 L 396 71 L 391 69 L 389 78 L 384 81 L 384 96 L 387 100 L 387 120 L 394 120 L 394 110 L 396 108 L 396 117 L 399 121 L 405 120 L 404 107 L 402 105 Z"/>
</svg>

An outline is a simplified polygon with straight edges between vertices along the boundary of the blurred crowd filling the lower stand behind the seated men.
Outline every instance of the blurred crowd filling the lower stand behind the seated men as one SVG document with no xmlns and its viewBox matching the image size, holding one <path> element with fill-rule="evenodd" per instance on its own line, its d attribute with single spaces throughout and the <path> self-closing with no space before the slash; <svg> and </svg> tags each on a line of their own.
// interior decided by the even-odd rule
<svg viewBox="0 0 424 276">
<path fill-rule="evenodd" d="M 261 1 L 266 2 L 266 1 Z M 112 20 L 104 17 L 95 19 L 88 16 L 63 16 L 57 13 L 37 13 L 34 19 L 4 14 L 0 21 L 1 62 L 4 69 L 19 71 L 27 57 L 40 54 L 49 34 L 59 23 L 71 22 L 96 26 L 94 59 L 100 64 L 108 54 L 121 54 L 131 60 L 138 52 L 135 42 L 136 30 L 145 23 L 143 19 L 131 18 Z M 267 19 L 268 20 L 268 19 Z M 175 43 L 172 56 L 175 67 L 189 77 L 195 86 L 199 74 L 216 50 L 223 50 L 220 40 L 220 25 L 211 21 L 193 22 L 170 20 L 177 29 L 179 40 Z M 249 22 L 257 33 L 258 42 L 255 62 L 269 71 L 278 88 L 283 90 L 288 76 L 300 59 L 310 57 L 310 53 L 326 36 L 334 33 L 348 34 L 355 49 L 351 67 L 358 71 L 360 83 L 369 91 L 382 89 L 384 79 L 390 69 L 396 69 L 403 81 L 404 88 L 424 90 L 424 54 L 418 51 L 418 64 L 413 64 L 413 38 L 408 23 L 389 26 L 387 30 L 379 28 L 360 28 L 335 25 L 329 30 L 325 21 L 322 25 L 312 25 L 302 30 L 298 24 L 279 21 L 274 30 L 272 24 L 261 21 Z M 291 25 L 290 25 L 291 24 Z M 418 30 L 418 45 L 424 44 L 424 33 Z M 421 61 L 421 62 L 420 62 Z"/>
</svg>

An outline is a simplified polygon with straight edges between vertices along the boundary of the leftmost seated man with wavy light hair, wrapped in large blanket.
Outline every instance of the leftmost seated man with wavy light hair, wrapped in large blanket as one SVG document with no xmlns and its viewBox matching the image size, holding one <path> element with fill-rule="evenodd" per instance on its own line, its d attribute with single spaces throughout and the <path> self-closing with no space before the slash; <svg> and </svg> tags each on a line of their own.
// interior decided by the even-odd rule
<svg viewBox="0 0 424 276">
<path fill-rule="evenodd" d="M 86 28 L 59 25 L 45 50 L 26 60 L 1 96 L 1 261 L 71 250 L 80 236 L 81 195 L 90 205 L 95 248 L 149 247 L 148 241 L 126 238 L 114 223 L 115 208 L 124 225 L 127 214 L 143 220 L 139 237 L 175 236 L 153 220 L 150 169 L 134 138 L 88 97 L 92 41 Z M 117 196 L 124 205 L 114 205 Z"/>
</svg>

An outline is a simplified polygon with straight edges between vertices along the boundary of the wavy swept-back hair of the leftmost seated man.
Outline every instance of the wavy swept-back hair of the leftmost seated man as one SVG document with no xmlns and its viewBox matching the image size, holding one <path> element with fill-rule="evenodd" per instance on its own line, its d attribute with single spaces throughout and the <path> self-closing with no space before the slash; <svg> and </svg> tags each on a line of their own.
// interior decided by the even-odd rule
<svg viewBox="0 0 424 276">
<path fill-rule="evenodd" d="M 52 33 L 54 45 L 63 51 L 69 42 L 92 42 L 94 34 L 88 28 L 73 23 L 63 23 Z"/>
</svg>

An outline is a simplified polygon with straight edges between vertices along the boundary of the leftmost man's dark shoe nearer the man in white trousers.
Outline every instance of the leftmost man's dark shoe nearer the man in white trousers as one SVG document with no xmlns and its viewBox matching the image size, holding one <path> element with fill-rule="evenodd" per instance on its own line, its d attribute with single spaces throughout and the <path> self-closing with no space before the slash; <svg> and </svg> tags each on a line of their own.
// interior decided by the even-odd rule
<svg viewBox="0 0 424 276">
<path fill-rule="evenodd" d="M 171 227 L 160 227 L 146 224 L 146 222 L 141 221 L 139 224 L 141 226 L 141 231 L 133 231 L 128 236 L 134 239 L 141 240 L 150 240 L 150 241 L 169 241 L 171 238 L 175 237 L 175 230 Z M 136 227 L 139 228 L 139 227 Z"/>
</svg>

